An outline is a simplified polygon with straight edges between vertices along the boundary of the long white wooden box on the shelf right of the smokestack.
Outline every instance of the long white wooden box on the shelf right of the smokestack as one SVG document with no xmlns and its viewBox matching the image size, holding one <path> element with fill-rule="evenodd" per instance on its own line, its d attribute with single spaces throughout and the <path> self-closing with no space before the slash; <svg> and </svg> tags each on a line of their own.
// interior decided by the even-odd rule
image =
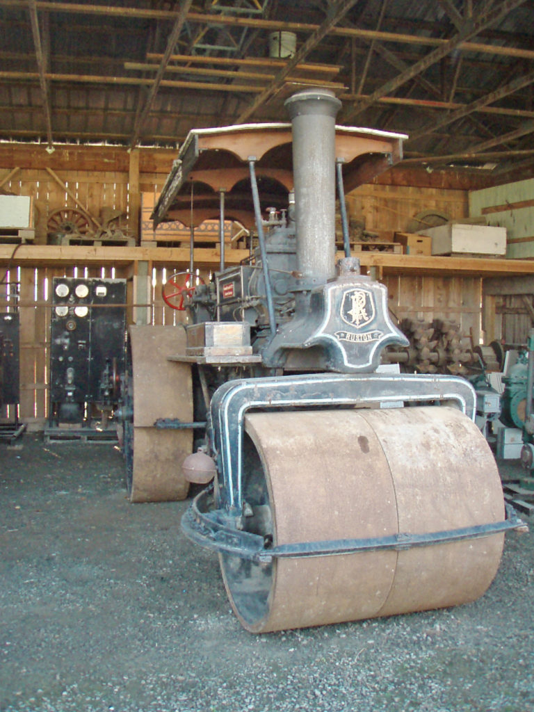
<svg viewBox="0 0 534 712">
<path fill-rule="evenodd" d="M 506 228 L 493 225 L 447 223 L 420 230 L 432 239 L 433 255 L 505 255 Z"/>
</svg>

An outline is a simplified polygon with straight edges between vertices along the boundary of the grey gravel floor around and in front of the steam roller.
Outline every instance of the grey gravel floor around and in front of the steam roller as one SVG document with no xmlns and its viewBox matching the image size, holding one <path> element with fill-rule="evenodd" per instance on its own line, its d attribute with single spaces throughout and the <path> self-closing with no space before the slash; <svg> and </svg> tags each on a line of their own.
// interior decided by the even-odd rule
<svg viewBox="0 0 534 712">
<path fill-rule="evenodd" d="M 532 531 L 473 604 L 254 636 L 112 445 L 0 444 L 0 506 L 1 712 L 534 711 Z"/>
</svg>

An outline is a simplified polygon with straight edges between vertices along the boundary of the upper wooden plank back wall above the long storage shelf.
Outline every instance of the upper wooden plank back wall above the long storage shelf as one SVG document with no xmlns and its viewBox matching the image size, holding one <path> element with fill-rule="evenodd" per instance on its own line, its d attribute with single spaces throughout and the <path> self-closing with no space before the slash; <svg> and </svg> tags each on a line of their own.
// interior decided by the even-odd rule
<svg viewBox="0 0 534 712">
<path fill-rule="evenodd" d="M 46 244 L 48 216 L 63 207 L 83 209 L 97 220 L 103 207 L 120 210 L 122 224 L 138 239 L 140 197 L 159 196 L 176 152 L 143 149 L 132 155 L 110 147 L 72 147 L 48 155 L 44 147 L 0 145 L 0 192 L 33 196 L 38 244 Z M 350 215 L 363 217 L 367 230 L 407 231 L 414 216 L 428 211 L 450 219 L 468 215 L 466 190 L 382 181 L 347 196 Z"/>
</svg>

